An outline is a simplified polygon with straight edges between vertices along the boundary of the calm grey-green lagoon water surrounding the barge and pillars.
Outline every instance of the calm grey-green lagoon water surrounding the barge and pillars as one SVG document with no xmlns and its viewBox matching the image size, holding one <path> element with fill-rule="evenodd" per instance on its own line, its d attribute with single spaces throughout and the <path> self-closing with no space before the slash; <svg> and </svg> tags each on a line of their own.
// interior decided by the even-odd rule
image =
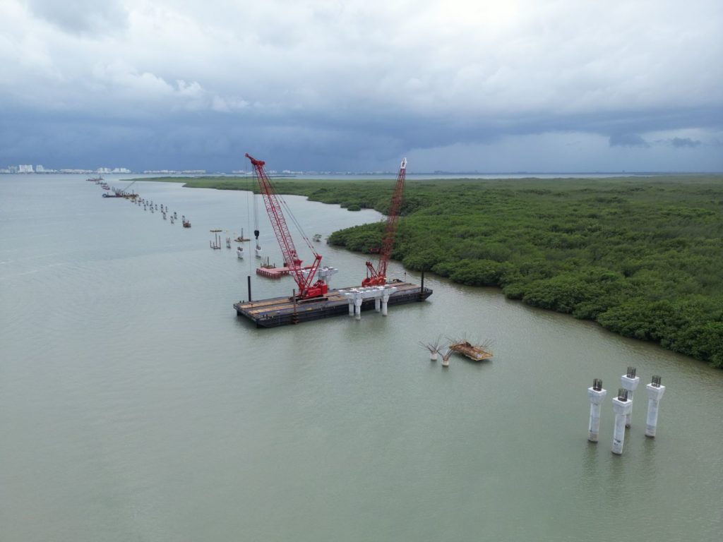
<svg viewBox="0 0 723 542">
<path fill-rule="evenodd" d="M 247 192 L 135 186 L 192 228 L 85 176 L 0 176 L 0 541 L 723 538 L 722 371 L 434 277 L 387 318 L 257 330 L 231 306 L 256 260 L 208 247 L 253 229 Z M 309 236 L 382 218 L 286 200 Z M 319 249 L 333 284 L 359 283 L 363 256 Z M 254 298 L 293 287 L 252 278 Z M 445 370 L 417 344 L 462 335 L 495 358 Z M 652 374 L 667 390 L 646 439 Z"/>
</svg>

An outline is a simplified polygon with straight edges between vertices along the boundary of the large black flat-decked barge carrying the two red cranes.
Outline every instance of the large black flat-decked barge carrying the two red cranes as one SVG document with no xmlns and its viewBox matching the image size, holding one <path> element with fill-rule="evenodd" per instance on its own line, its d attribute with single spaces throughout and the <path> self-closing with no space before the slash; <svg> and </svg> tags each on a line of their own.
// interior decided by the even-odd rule
<svg viewBox="0 0 723 542">
<path fill-rule="evenodd" d="M 389 305 L 401 305 L 424 301 L 432 295 L 431 288 L 422 288 L 419 285 L 403 282 L 394 282 L 391 285 L 397 288 L 389 298 Z M 359 286 L 349 286 L 342 290 L 351 290 Z M 261 299 L 260 301 L 244 301 L 234 304 L 238 316 L 252 320 L 256 327 L 278 327 L 288 324 L 299 324 L 311 320 L 320 320 L 338 315 L 349 314 L 349 304 L 346 297 L 339 290 L 330 290 L 326 297 L 309 299 L 308 301 L 294 301 L 291 297 L 276 297 Z M 374 310 L 375 300 L 364 299 L 361 304 L 362 311 Z"/>
</svg>

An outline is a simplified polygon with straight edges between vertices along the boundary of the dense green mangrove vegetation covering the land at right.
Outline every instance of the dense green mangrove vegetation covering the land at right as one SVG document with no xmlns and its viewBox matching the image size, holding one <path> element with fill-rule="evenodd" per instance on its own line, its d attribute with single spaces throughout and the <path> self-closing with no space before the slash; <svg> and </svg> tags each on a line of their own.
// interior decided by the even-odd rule
<svg viewBox="0 0 723 542">
<path fill-rule="evenodd" d="M 393 181 L 275 186 L 385 212 Z M 499 286 L 510 298 L 723 367 L 723 176 L 411 181 L 402 214 L 393 257 L 412 270 Z M 382 230 L 361 225 L 329 242 L 369 251 Z"/>
</svg>

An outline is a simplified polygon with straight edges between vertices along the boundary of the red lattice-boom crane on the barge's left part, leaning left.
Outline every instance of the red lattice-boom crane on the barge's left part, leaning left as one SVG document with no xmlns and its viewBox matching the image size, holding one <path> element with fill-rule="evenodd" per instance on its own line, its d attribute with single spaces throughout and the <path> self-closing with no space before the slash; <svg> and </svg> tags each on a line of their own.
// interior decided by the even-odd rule
<svg viewBox="0 0 723 542">
<path fill-rule="evenodd" d="M 304 233 L 301 232 L 301 236 L 304 241 L 307 242 L 309 249 L 314 253 L 314 263 L 308 268 L 303 269 L 301 267 L 301 259 L 296 253 L 296 247 L 294 246 L 294 239 L 291 238 L 291 233 L 288 231 L 288 225 L 286 225 L 286 218 L 283 217 L 281 212 L 281 203 L 283 199 L 281 196 L 276 194 L 276 191 L 269 181 L 266 171 L 264 170 L 265 162 L 263 160 L 256 160 L 249 153 L 246 153 L 246 158 L 251 160 L 251 164 L 254 166 L 254 176 L 259 183 L 259 189 L 261 195 L 264 198 L 264 204 L 266 205 L 266 212 L 268 212 L 271 226 L 278 239 L 278 244 L 281 247 L 281 254 L 283 255 L 284 267 L 288 267 L 291 275 L 294 276 L 296 284 L 299 285 L 299 293 L 297 295 L 300 299 L 307 299 L 312 297 L 325 296 L 328 291 L 328 285 L 323 280 L 317 280 L 312 284 L 316 275 L 317 269 L 321 262 L 321 255 L 314 250 L 311 242 Z M 294 220 L 294 217 L 291 217 Z M 296 222 L 296 220 L 294 220 Z M 298 223 L 297 223 L 298 225 Z"/>
</svg>

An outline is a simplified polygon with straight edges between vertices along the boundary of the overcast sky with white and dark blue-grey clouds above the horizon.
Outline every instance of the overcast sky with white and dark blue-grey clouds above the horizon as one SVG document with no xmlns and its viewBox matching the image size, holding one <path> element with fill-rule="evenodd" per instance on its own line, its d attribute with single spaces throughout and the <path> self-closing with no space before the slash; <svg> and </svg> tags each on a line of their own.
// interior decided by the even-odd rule
<svg viewBox="0 0 723 542">
<path fill-rule="evenodd" d="M 721 0 L 1 0 L 0 167 L 723 171 Z"/>
</svg>

